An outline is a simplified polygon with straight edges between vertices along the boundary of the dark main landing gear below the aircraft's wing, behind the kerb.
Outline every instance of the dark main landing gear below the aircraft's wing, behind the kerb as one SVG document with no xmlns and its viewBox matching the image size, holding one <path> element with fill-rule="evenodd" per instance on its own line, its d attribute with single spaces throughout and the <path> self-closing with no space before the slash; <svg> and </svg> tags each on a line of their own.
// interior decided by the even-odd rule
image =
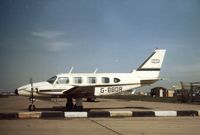
<svg viewBox="0 0 200 135">
<path fill-rule="evenodd" d="M 67 111 L 83 111 L 83 100 L 82 98 L 76 98 L 76 104 L 73 104 L 73 99 L 71 97 L 67 98 L 66 103 Z"/>
</svg>

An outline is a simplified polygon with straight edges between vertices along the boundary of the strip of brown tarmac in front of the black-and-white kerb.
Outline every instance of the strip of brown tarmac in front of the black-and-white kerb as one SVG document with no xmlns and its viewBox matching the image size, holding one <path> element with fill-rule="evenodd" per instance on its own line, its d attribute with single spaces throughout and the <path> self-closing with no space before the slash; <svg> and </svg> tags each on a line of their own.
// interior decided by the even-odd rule
<svg viewBox="0 0 200 135">
<path fill-rule="evenodd" d="M 1 135 L 199 135 L 199 117 L 0 120 Z"/>
</svg>

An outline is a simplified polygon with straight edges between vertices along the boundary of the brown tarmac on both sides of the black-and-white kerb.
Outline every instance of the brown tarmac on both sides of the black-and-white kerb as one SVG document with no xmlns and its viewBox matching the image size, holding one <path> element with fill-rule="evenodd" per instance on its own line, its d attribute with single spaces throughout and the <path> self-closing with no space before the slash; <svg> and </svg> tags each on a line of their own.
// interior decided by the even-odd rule
<svg viewBox="0 0 200 135">
<path fill-rule="evenodd" d="M 0 98 L 0 113 L 24 112 L 28 98 Z M 37 111 L 66 111 L 65 100 L 37 101 Z M 200 105 L 97 99 L 84 102 L 86 111 L 162 111 L 200 110 Z M 0 120 L 2 135 L 199 135 L 200 117 L 123 117 L 123 118 L 65 118 Z"/>
</svg>

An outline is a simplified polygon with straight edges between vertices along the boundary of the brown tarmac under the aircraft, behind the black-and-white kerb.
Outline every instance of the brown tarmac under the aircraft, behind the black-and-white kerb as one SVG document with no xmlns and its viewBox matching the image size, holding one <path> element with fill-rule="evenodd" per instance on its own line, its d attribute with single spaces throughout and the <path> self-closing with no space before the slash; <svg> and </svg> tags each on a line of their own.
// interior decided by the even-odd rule
<svg viewBox="0 0 200 135">
<path fill-rule="evenodd" d="M 28 111 L 30 104 L 27 97 L 10 96 L 0 98 L 0 112 Z M 66 111 L 65 99 L 53 99 L 52 101 L 36 100 L 37 111 Z M 200 105 L 182 103 L 161 103 L 144 101 L 124 101 L 117 99 L 97 98 L 95 102 L 83 102 L 85 111 L 174 111 L 174 110 L 200 110 Z"/>
</svg>

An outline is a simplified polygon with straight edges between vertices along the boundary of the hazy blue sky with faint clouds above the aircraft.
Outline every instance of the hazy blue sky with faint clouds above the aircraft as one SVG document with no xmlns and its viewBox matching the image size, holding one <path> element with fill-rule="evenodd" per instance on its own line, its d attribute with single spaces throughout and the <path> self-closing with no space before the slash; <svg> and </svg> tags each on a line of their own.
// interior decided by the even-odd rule
<svg viewBox="0 0 200 135">
<path fill-rule="evenodd" d="M 69 72 L 130 72 L 167 49 L 154 86 L 200 81 L 199 0 L 0 0 L 0 89 Z"/>
</svg>

